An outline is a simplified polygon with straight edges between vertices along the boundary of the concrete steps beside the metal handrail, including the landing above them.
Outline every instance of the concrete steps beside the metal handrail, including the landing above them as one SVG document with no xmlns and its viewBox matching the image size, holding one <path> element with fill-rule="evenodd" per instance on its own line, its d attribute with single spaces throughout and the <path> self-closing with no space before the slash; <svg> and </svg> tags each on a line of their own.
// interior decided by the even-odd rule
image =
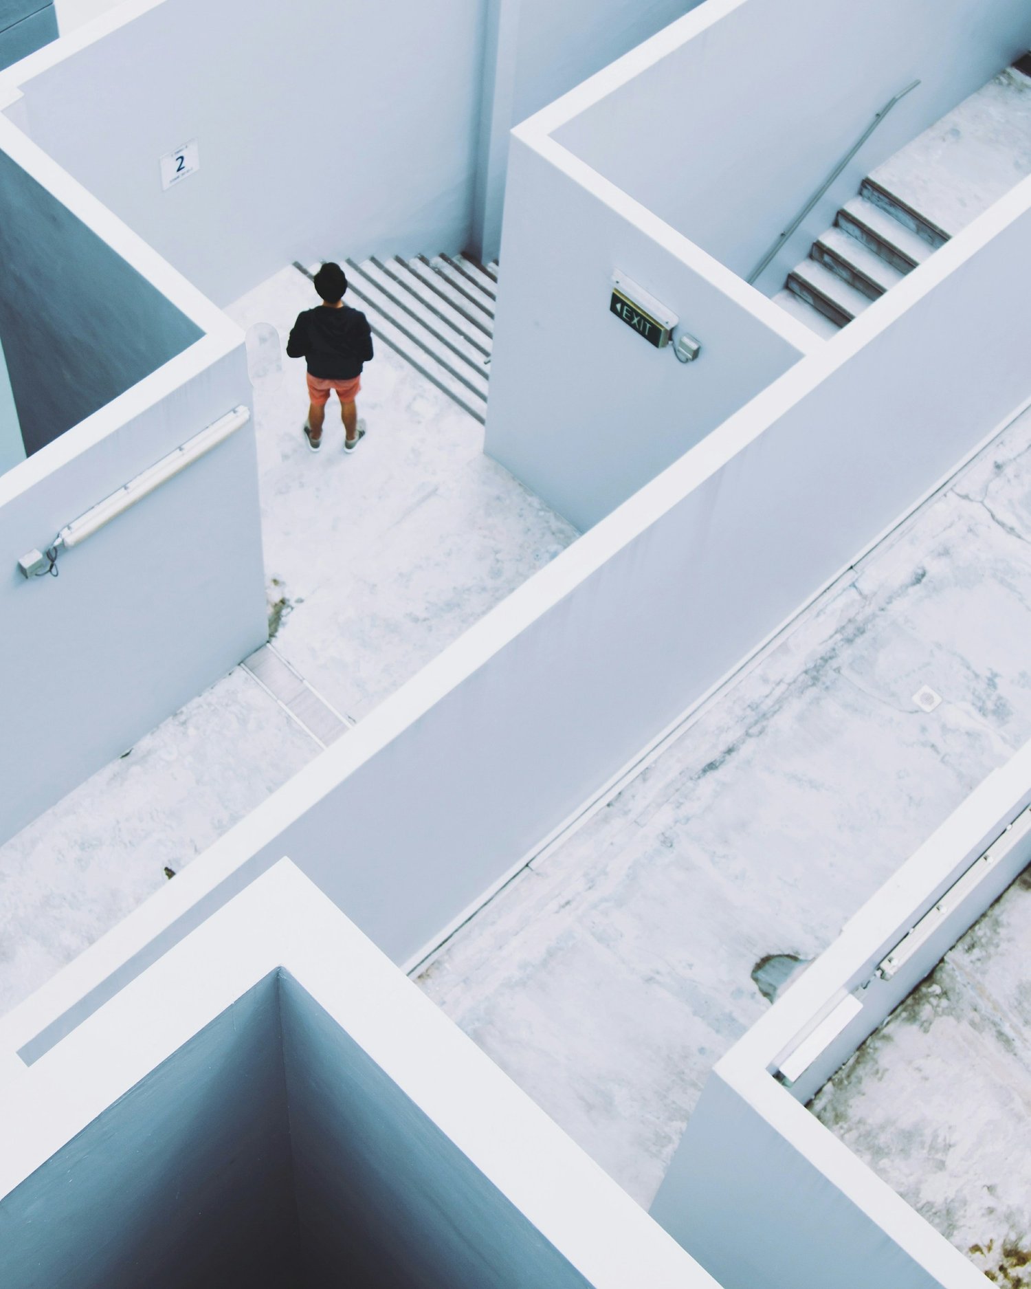
<svg viewBox="0 0 1031 1289">
<path fill-rule="evenodd" d="M 1031 79 L 1010 67 L 863 179 L 773 300 L 835 335 L 1027 174 Z"/>
</svg>

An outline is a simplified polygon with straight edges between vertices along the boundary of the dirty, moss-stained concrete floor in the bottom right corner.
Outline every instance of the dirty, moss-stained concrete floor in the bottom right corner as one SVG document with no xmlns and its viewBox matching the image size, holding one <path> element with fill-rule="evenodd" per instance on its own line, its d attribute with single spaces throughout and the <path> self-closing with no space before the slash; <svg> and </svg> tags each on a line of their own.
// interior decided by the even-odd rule
<svg viewBox="0 0 1031 1289">
<path fill-rule="evenodd" d="M 1031 869 L 811 1102 L 997 1284 L 1031 1285 Z"/>
</svg>

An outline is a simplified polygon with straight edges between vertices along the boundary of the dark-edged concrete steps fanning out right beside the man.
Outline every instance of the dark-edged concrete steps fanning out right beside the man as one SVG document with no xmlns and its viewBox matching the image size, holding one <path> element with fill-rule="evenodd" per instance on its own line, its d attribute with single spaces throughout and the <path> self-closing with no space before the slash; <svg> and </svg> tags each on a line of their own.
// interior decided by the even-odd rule
<svg viewBox="0 0 1031 1289">
<path fill-rule="evenodd" d="M 384 344 L 474 416 L 487 414 L 497 263 L 465 255 L 347 260 L 348 299 Z"/>
</svg>

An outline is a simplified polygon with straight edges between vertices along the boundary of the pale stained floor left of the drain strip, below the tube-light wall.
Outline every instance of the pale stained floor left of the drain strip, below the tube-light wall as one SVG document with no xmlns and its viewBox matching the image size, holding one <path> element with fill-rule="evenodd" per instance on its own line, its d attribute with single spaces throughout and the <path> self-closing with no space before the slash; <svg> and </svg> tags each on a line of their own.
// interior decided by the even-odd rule
<svg viewBox="0 0 1031 1289">
<path fill-rule="evenodd" d="M 318 750 L 237 668 L 1 846 L 0 1013 Z"/>
</svg>

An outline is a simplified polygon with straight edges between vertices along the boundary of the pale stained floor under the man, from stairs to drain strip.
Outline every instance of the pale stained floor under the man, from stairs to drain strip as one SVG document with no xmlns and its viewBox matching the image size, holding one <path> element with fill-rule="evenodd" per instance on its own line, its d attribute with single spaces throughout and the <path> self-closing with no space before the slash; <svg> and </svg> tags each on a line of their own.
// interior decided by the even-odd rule
<svg viewBox="0 0 1031 1289">
<path fill-rule="evenodd" d="M 272 321 L 285 344 L 317 303 L 287 268 L 228 312 L 244 327 Z M 374 344 L 358 396 L 369 433 L 353 455 L 335 397 L 322 450 L 307 451 L 303 362 L 284 358 L 255 407 L 269 601 L 285 601 L 276 647 L 353 719 L 576 536 L 483 455 L 472 416 Z"/>
</svg>

